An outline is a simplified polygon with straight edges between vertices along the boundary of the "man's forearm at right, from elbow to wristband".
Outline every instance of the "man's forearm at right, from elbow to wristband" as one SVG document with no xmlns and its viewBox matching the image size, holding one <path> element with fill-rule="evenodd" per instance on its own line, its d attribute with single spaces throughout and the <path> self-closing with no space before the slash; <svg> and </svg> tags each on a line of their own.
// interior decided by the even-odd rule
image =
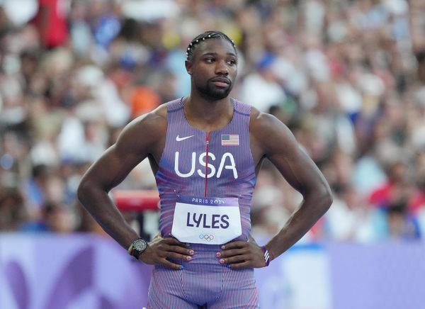
<svg viewBox="0 0 425 309">
<path fill-rule="evenodd" d="M 270 258 L 276 259 L 292 247 L 317 220 L 327 212 L 331 205 L 330 193 L 305 196 L 305 200 L 289 218 L 285 226 L 266 245 Z"/>
</svg>

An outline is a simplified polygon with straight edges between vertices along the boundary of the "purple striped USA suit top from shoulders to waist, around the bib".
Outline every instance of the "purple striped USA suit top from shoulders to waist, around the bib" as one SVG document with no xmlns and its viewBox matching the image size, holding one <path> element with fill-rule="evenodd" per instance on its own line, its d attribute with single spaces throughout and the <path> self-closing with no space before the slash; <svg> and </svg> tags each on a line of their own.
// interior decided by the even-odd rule
<svg viewBox="0 0 425 309">
<path fill-rule="evenodd" d="M 189 125 L 182 99 L 166 104 L 167 129 L 162 141 L 162 154 L 159 158 L 157 151 L 149 158 L 161 198 L 162 235 L 171 231 L 176 198 L 182 195 L 238 198 L 242 238 L 247 238 L 251 227 L 251 197 L 256 182 L 256 164 L 250 148 L 250 111 L 250 106 L 234 101 L 234 115 L 230 123 L 219 130 L 206 132 Z"/>
</svg>

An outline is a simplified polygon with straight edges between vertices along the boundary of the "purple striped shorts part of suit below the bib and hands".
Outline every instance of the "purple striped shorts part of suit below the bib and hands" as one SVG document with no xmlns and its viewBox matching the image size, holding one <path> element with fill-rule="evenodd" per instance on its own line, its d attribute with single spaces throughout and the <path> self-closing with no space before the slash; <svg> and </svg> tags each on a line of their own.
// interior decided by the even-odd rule
<svg viewBox="0 0 425 309">
<path fill-rule="evenodd" d="M 191 261 L 171 260 L 182 270 L 156 265 L 148 293 L 151 309 L 259 308 L 254 269 L 232 269 L 220 264 L 220 245 L 191 244 Z"/>
</svg>

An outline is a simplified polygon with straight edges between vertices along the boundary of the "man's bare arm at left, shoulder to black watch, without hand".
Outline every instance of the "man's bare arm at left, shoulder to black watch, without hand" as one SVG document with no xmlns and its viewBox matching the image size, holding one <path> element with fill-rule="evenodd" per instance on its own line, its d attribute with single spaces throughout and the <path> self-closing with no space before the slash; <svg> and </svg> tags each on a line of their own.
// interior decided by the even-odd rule
<svg viewBox="0 0 425 309">
<path fill-rule="evenodd" d="M 126 249 L 138 238 L 125 222 L 118 208 L 108 196 L 128 173 L 147 154 L 155 151 L 166 130 L 166 120 L 152 112 L 128 124 L 111 146 L 84 174 L 79 184 L 78 198 L 113 239 Z"/>
</svg>

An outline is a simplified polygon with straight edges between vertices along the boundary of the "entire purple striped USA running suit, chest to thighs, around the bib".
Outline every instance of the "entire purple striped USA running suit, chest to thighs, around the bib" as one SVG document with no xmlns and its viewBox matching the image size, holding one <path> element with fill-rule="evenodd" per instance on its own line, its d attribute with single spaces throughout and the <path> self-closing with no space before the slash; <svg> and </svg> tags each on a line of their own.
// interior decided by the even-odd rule
<svg viewBox="0 0 425 309">
<path fill-rule="evenodd" d="M 233 101 L 230 123 L 210 133 L 188 124 L 183 98 L 167 103 L 166 143 L 155 175 L 161 203 L 159 229 L 162 237 L 171 235 L 179 196 L 189 196 L 198 198 L 196 201 L 203 201 L 203 198 L 237 201 L 242 234 L 234 240 L 248 239 L 251 198 L 256 183 L 249 147 L 251 106 Z M 193 208 L 196 211 L 196 205 Z M 200 217 L 199 222 L 197 218 L 194 216 L 193 220 L 199 223 Z M 188 215 L 187 224 L 195 225 L 190 223 L 191 219 Z M 219 215 L 212 221 L 205 217 L 203 226 L 212 227 L 214 232 L 220 224 L 226 227 L 225 219 L 220 221 Z M 183 265 L 183 270 L 154 266 L 149 308 L 258 308 L 254 269 L 232 269 L 220 264 L 220 259 L 215 257 L 220 245 L 207 245 L 210 238 L 206 236 L 205 244 L 191 243 L 191 249 L 196 252 L 191 261 L 170 259 Z"/>
</svg>

